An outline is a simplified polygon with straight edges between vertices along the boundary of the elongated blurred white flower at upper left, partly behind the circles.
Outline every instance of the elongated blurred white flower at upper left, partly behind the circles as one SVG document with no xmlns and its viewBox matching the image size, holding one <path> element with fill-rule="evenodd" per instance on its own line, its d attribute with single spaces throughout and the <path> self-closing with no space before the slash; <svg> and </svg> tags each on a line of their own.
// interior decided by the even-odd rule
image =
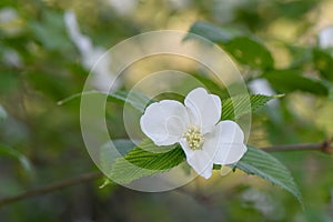
<svg viewBox="0 0 333 222">
<path fill-rule="evenodd" d="M 111 57 L 108 51 L 100 47 L 93 47 L 91 39 L 80 32 L 74 12 L 67 11 L 64 13 L 64 23 L 72 42 L 80 51 L 82 65 L 87 70 L 93 71 L 93 87 L 105 93 L 109 90 L 119 89 L 120 82 L 110 70 Z M 110 83 L 112 83 L 111 89 Z"/>
</svg>

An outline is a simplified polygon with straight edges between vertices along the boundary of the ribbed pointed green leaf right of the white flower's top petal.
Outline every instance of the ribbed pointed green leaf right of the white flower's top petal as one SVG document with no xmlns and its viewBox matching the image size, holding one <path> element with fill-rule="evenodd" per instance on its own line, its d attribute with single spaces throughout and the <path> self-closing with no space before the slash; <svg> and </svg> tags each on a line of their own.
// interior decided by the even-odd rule
<svg viewBox="0 0 333 222">
<path fill-rule="evenodd" d="M 283 95 L 244 94 L 229 98 L 222 101 L 222 120 L 236 120 L 281 97 Z"/>
</svg>

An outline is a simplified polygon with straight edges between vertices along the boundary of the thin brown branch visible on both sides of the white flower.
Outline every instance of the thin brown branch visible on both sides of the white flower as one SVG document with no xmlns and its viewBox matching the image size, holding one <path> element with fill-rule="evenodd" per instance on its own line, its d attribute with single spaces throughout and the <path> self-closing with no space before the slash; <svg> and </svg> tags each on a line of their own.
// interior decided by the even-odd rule
<svg viewBox="0 0 333 222">
<path fill-rule="evenodd" d="M 300 144 L 287 144 L 287 145 L 273 145 L 273 147 L 266 147 L 262 148 L 266 152 L 280 152 L 280 151 L 320 151 L 324 153 L 333 153 L 333 138 L 324 141 L 322 143 L 300 143 Z M 50 185 L 37 188 L 34 190 L 26 191 L 21 194 L 13 195 L 10 198 L 3 198 L 0 199 L 0 208 L 20 200 L 24 200 L 32 196 L 43 195 L 47 193 L 54 192 L 57 190 L 61 190 L 63 188 L 68 188 L 71 185 L 77 185 L 80 183 L 85 183 L 88 181 L 92 181 L 95 179 L 101 178 L 103 174 L 101 172 L 90 172 L 82 175 L 79 175 L 77 178 L 71 178 L 58 183 L 53 183 Z"/>
</svg>

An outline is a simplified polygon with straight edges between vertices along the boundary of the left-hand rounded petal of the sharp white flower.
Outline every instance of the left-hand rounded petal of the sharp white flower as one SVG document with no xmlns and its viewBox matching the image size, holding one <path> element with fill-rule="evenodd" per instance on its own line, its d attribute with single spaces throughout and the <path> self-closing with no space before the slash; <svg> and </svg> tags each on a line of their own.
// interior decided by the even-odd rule
<svg viewBox="0 0 333 222">
<path fill-rule="evenodd" d="M 179 142 L 189 125 L 185 107 L 173 100 L 150 104 L 140 119 L 141 130 L 157 145 L 171 145 Z"/>
</svg>

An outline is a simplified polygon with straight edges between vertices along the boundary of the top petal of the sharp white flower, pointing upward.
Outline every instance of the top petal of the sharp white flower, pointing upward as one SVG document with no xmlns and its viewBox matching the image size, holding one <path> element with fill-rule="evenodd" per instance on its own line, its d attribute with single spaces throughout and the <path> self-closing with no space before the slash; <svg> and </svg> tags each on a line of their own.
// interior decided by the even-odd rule
<svg viewBox="0 0 333 222">
<path fill-rule="evenodd" d="M 209 132 L 221 119 L 221 100 L 215 94 L 209 94 L 205 89 L 192 90 L 185 98 L 191 123 L 201 128 L 202 133 Z"/>
</svg>

